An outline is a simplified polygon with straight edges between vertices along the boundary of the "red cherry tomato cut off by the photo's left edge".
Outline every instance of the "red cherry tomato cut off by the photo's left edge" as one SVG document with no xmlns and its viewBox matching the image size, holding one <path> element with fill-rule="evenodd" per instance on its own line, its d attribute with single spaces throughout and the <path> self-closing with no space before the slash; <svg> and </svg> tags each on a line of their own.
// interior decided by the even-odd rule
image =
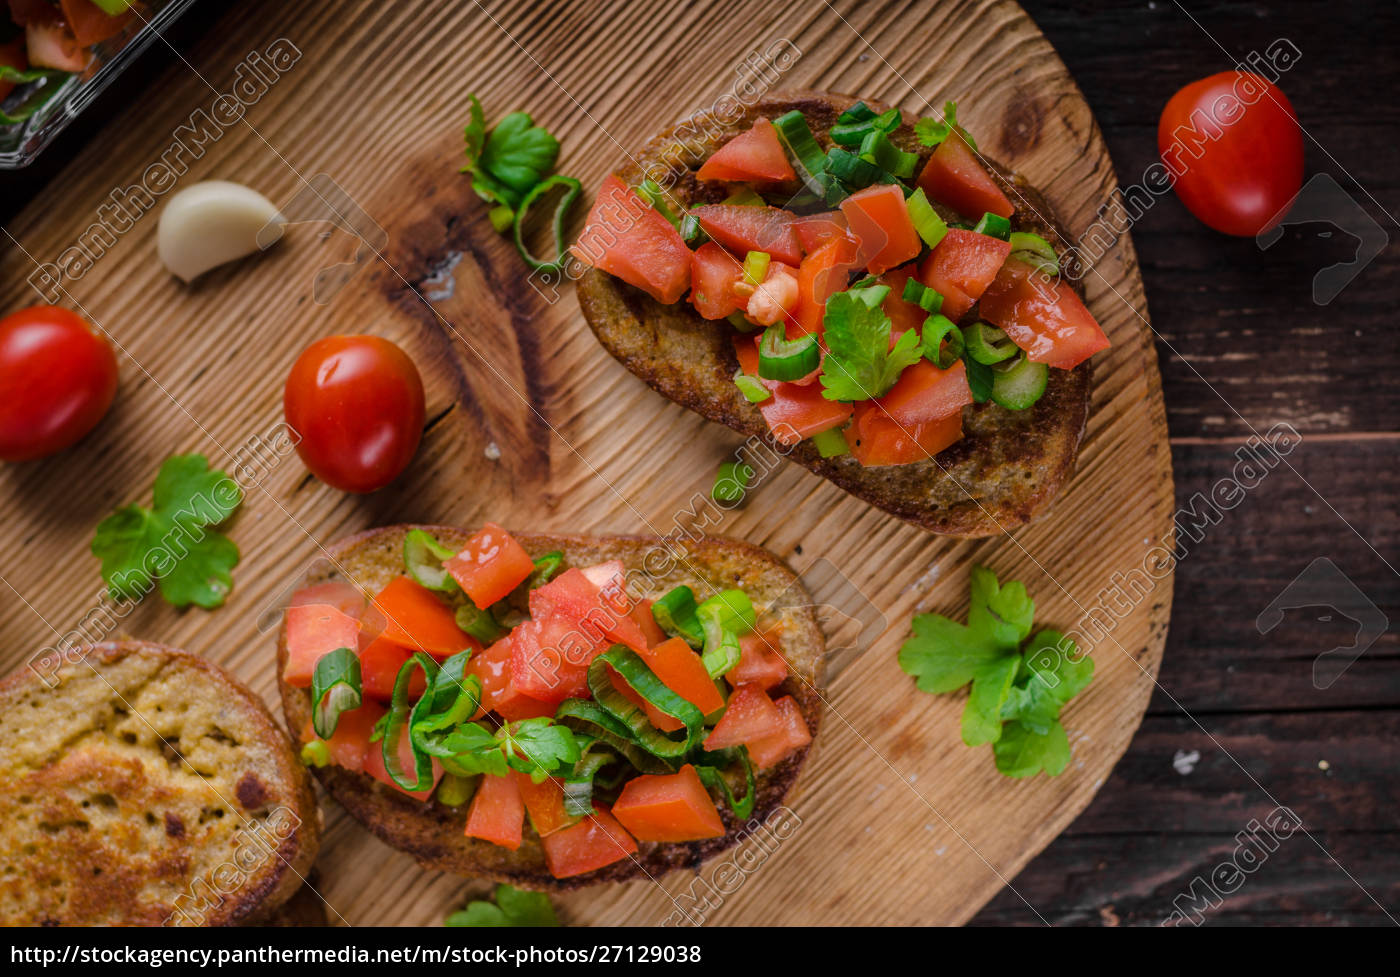
<svg viewBox="0 0 1400 977">
<path fill-rule="evenodd" d="M 63 451 L 116 396 L 116 356 L 76 312 L 35 305 L 0 319 L 0 459 Z"/>
</svg>

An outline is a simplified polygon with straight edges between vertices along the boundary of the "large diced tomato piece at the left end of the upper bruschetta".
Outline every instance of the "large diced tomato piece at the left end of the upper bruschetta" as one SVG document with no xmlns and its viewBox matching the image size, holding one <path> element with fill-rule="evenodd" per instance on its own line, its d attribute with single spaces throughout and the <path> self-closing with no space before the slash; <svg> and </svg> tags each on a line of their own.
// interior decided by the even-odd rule
<svg viewBox="0 0 1400 977">
<path fill-rule="evenodd" d="M 603 181 L 588 225 L 570 251 L 666 305 L 690 287 L 690 249 L 680 232 L 616 175 Z"/>
</svg>

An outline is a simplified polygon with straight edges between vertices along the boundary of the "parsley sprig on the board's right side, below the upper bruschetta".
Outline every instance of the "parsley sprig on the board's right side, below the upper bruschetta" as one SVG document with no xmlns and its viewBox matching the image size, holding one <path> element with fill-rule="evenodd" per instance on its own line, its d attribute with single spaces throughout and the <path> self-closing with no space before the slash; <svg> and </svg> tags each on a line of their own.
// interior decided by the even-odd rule
<svg viewBox="0 0 1400 977">
<path fill-rule="evenodd" d="M 1022 584 L 998 584 L 990 570 L 973 567 L 970 589 L 967 624 L 941 614 L 914 617 L 899 666 L 924 691 L 972 683 L 963 742 L 991 743 L 997 770 L 1008 777 L 1054 777 L 1070 766 L 1060 711 L 1089 684 L 1093 661 L 1060 631 L 1030 635 L 1035 600 Z"/>
</svg>

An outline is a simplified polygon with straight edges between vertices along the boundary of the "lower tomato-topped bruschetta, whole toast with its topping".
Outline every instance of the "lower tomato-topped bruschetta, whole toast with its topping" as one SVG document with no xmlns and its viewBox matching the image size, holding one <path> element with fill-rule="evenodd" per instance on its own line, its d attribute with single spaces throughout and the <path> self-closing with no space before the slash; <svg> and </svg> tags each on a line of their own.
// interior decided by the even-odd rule
<svg viewBox="0 0 1400 977">
<path fill-rule="evenodd" d="M 286 610 L 287 721 L 426 868 L 560 890 L 696 865 L 816 733 L 822 633 L 756 546 L 400 525 L 330 564 Z"/>
</svg>

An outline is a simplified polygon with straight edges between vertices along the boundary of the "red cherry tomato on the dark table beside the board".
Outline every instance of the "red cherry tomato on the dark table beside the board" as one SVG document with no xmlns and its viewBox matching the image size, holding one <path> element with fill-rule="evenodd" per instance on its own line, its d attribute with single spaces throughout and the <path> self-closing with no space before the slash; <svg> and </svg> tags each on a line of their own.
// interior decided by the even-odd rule
<svg viewBox="0 0 1400 977">
<path fill-rule="evenodd" d="M 1172 95 L 1156 147 L 1176 196 L 1224 234 L 1271 227 L 1303 185 L 1298 115 L 1278 85 L 1249 71 L 1221 71 Z"/>
</svg>

